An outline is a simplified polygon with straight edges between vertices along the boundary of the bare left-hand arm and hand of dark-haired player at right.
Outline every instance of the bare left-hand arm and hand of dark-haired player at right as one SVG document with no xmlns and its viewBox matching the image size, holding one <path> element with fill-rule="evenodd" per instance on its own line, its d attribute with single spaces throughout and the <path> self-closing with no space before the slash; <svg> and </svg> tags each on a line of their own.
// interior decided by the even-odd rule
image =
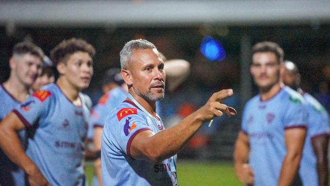
<svg viewBox="0 0 330 186">
<path fill-rule="evenodd" d="M 254 183 L 254 173 L 247 163 L 249 159 L 250 145 L 249 137 L 240 131 L 235 143 L 234 151 L 234 170 L 238 179 L 244 184 Z"/>
</svg>

